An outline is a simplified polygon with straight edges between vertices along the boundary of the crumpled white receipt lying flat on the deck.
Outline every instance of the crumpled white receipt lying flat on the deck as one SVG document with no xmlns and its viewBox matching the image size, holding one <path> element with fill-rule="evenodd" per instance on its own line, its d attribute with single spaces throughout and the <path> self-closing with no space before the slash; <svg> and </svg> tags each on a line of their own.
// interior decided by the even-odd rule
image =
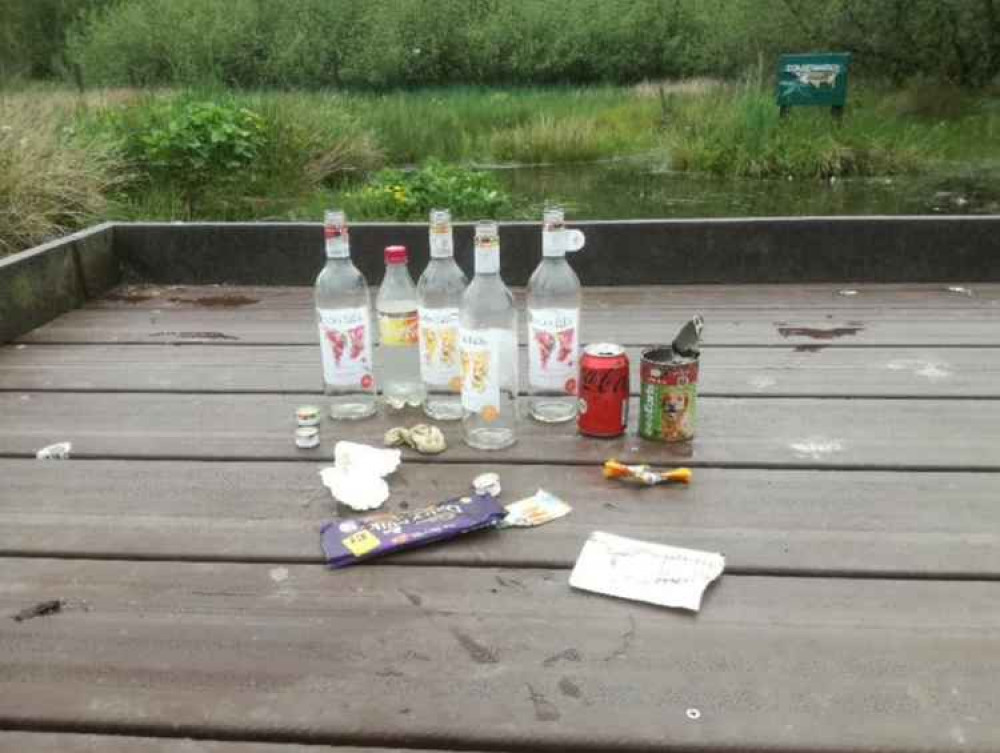
<svg viewBox="0 0 1000 753">
<path fill-rule="evenodd" d="M 697 612 L 726 559 L 715 552 L 590 534 L 569 576 L 573 588 Z"/>
</svg>

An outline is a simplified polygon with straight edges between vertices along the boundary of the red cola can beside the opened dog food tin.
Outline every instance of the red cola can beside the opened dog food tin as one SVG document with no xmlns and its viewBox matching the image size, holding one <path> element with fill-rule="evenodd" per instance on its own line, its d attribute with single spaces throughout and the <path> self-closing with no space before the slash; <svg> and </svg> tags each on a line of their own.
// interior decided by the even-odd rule
<svg viewBox="0 0 1000 753">
<path fill-rule="evenodd" d="M 628 356 L 612 343 L 594 343 L 580 359 L 577 428 L 590 437 L 620 437 L 628 425 Z"/>
</svg>

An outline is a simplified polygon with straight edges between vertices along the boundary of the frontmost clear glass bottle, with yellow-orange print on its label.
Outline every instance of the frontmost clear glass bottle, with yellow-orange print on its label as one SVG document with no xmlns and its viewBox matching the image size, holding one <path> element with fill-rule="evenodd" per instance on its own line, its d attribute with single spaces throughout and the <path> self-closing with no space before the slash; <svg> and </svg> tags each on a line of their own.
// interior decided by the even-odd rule
<svg viewBox="0 0 1000 753">
<path fill-rule="evenodd" d="M 476 275 L 459 313 L 465 442 L 500 450 L 517 440 L 517 309 L 500 279 L 495 222 L 476 225 Z"/>
</svg>

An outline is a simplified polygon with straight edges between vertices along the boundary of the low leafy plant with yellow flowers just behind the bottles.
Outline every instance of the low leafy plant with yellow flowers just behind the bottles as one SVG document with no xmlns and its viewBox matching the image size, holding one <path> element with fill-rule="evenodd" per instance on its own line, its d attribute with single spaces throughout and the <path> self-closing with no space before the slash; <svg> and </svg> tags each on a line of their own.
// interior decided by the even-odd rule
<svg viewBox="0 0 1000 753">
<path fill-rule="evenodd" d="M 486 172 L 429 162 L 419 170 L 381 170 L 342 197 L 351 217 L 423 220 L 435 207 L 459 219 L 493 217 L 510 208 L 510 197 Z"/>
</svg>

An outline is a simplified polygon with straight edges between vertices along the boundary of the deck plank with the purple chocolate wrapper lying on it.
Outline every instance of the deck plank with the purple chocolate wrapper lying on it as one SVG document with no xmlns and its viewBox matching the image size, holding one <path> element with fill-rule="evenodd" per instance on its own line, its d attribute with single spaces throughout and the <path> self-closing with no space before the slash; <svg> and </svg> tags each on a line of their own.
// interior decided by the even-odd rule
<svg viewBox="0 0 1000 753">
<path fill-rule="evenodd" d="M 313 463 L 0 461 L 0 556 L 320 563 L 337 515 Z M 404 464 L 386 509 L 460 494 L 488 465 Z M 635 489 L 596 468 L 513 466 L 503 499 L 538 487 L 572 514 L 416 550 L 400 565 L 567 568 L 594 530 L 726 553 L 730 572 L 1000 578 L 992 474 L 700 469 Z"/>
</svg>

